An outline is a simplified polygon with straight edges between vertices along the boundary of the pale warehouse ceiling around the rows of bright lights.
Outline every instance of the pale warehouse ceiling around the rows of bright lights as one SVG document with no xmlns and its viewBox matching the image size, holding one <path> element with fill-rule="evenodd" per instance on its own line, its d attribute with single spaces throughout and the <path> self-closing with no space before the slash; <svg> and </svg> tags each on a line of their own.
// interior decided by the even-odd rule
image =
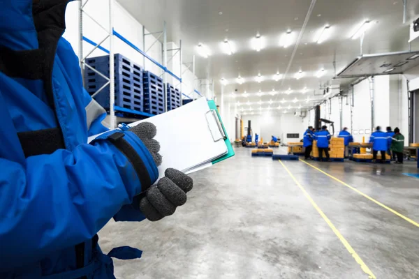
<svg viewBox="0 0 419 279">
<path fill-rule="evenodd" d="M 360 54 L 360 40 L 351 40 L 356 27 L 365 20 L 374 22 L 365 34 L 363 53 L 382 53 L 409 50 L 409 24 L 419 15 L 419 0 L 407 0 L 407 20 L 403 20 L 403 0 L 118 0 L 130 11 L 138 22 L 145 24 L 149 31 L 161 31 L 163 21 L 168 26 L 168 40 L 182 39 L 184 63 L 192 61 L 196 54 L 197 76 L 207 75 L 216 82 L 216 92 L 220 91 L 221 78 L 228 81 L 225 92 L 229 95 L 237 89 L 237 98 L 230 102 L 242 103 L 249 100 L 279 101 L 282 98 L 302 100 L 318 90 L 320 84 L 330 82 L 336 72 L 351 63 Z M 315 3 L 314 3 L 315 2 Z M 295 47 L 310 5 L 314 9 L 308 19 L 300 44 Z M 219 13 L 222 13 L 220 15 Z M 331 35 L 322 44 L 314 42 L 319 29 L 329 24 Z M 284 49 L 279 46 L 279 38 L 288 29 L 293 31 L 293 44 Z M 226 31 L 228 30 L 228 31 Z M 256 52 L 251 48 L 251 38 L 260 33 L 266 41 L 265 49 Z M 221 42 L 228 38 L 237 47 L 232 56 L 223 54 Z M 203 43 L 212 51 L 208 59 L 200 57 L 196 48 Z M 414 43 L 413 50 L 419 50 Z M 291 56 L 295 56 L 291 61 Z M 290 65 L 288 73 L 286 70 Z M 321 79 L 318 70 L 327 73 Z M 305 74 L 300 80 L 294 75 L 299 70 Z M 273 80 L 275 73 L 286 77 L 279 82 Z M 260 73 L 265 81 L 260 84 L 255 77 Z M 238 75 L 247 81 L 240 85 L 235 82 Z M 348 80 L 335 80 L 333 84 L 345 86 Z M 309 93 L 300 93 L 307 87 Z M 289 88 L 293 93 L 282 92 Z M 276 96 L 249 96 L 243 98 L 244 91 L 256 93 L 259 90 L 281 92 Z M 300 103 L 300 102 L 298 102 Z M 291 103 L 293 104 L 293 103 Z M 307 105 L 305 102 L 302 105 Z"/>
</svg>

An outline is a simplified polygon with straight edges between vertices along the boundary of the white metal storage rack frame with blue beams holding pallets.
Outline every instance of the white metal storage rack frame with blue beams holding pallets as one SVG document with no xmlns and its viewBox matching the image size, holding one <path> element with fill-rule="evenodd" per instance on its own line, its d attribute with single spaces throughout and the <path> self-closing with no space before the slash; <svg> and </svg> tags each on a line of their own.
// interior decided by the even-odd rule
<svg viewBox="0 0 419 279">
<path fill-rule="evenodd" d="M 175 49 L 170 49 L 170 50 L 168 50 L 168 48 L 167 48 L 167 43 L 168 42 L 167 42 L 166 22 L 163 23 L 163 31 L 159 31 L 159 32 L 145 33 L 145 27 L 143 26 L 143 29 L 142 29 L 142 34 L 143 34 L 142 50 L 140 50 L 139 47 L 137 47 L 136 45 L 131 43 L 124 36 L 122 36 L 121 33 L 118 33 L 117 31 L 115 31 L 114 26 L 113 26 L 113 20 L 114 20 L 114 18 L 113 18 L 113 8 L 112 8 L 113 1 L 114 0 L 108 0 L 108 5 L 109 5 L 108 27 L 105 27 L 102 24 L 100 24 L 97 20 L 94 19 L 94 17 L 92 17 L 91 15 L 89 15 L 89 13 L 86 12 L 84 7 L 89 2 L 89 0 L 80 1 L 79 2 L 79 9 L 78 9 L 78 12 L 79 12 L 79 53 L 78 53 L 78 57 L 79 57 L 79 61 L 80 61 L 80 68 L 82 69 L 82 71 L 84 71 L 83 70 L 84 67 L 87 67 L 90 70 L 93 70 L 95 73 L 97 73 L 98 75 L 100 75 L 101 77 L 103 77 L 106 80 L 105 84 L 103 84 L 103 86 L 101 86 L 101 88 L 99 88 L 95 93 L 93 93 L 91 95 L 92 98 L 94 96 L 96 96 L 96 94 L 100 93 L 103 89 L 105 89 L 106 86 L 109 85 L 109 88 L 110 88 L 110 90 L 109 90 L 109 94 L 110 94 L 110 112 L 109 112 L 109 114 L 110 114 L 110 128 L 115 128 L 115 123 L 116 123 L 115 111 L 126 112 L 126 109 L 122 110 L 121 107 L 115 106 L 115 65 L 114 65 L 115 50 L 114 50 L 114 47 L 113 47 L 114 36 L 119 38 L 119 40 L 122 40 L 124 43 L 126 43 L 126 45 L 130 46 L 131 48 L 133 48 L 133 50 L 135 50 L 136 52 L 138 52 L 139 54 L 141 54 L 143 56 L 143 67 L 144 68 L 145 68 L 145 59 L 148 59 L 149 61 L 152 61 L 152 63 L 154 63 L 159 68 L 161 68 L 161 70 L 162 70 L 161 76 L 163 76 L 163 81 L 164 81 L 164 96 L 165 96 L 165 98 L 164 98 L 164 109 L 165 109 L 165 112 L 167 111 L 167 108 L 168 108 L 167 75 L 171 75 L 173 78 L 175 78 L 175 80 L 177 80 L 179 82 L 179 84 L 177 84 L 177 86 L 180 87 L 180 92 L 182 93 L 182 65 L 183 65 L 183 61 L 182 61 L 182 59 L 183 59 L 182 40 L 179 40 L 179 47 L 177 47 Z M 101 27 L 101 29 L 103 29 L 106 32 L 106 36 L 102 40 L 100 40 L 99 43 L 95 43 L 93 40 L 90 40 L 89 38 L 84 36 L 84 33 L 83 33 L 83 17 L 84 16 L 89 17 L 95 24 L 98 25 L 98 27 Z M 158 34 L 159 36 L 155 39 L 155 41 L 152 43 L 152 45 L 149 47 L 149 49 L 145 50 L 145 38 L 146 38 L 146 36 L 155 35 L 155 34 Z M 163 51 L 162 51 L 163 64 L 159 63 L 158 61 L 153 59 L 151 56 L 149 56 L 149 54 L 147 54 L 147 52 L 151 49 L 151 47 L 154 44 L 159 42 L 161 36 L 163 36 L 163 43 L 161 43 L 162 44 L 162 49 L 163 49 Z M 105 47 L 103 47 L 103 43 L 105 43 L 105 41 L 108 40 L 108 39 L 109 39 L 109 49 L 106 49 Z M 92 50 L 90 50 L 87 54 L 84 54 L 84 52 L 83 52 L 83 42 L 87 42 L 90 45 L 94 46 L 94 48 Z M 86 59 L 94 52 L 94 50 L 102 50 L 106 54 L 109 54 L 109 73 L 110 73 L 109 77 L 103 75 L 103 73 L 100 73 L 98 70 L 89 66 L 88 63 L 86 63 Z M 180 75 L 180 77 L 178 77 L 177 75 L 172 73 L 171 70 L 168 69 L 168 66 L 167 66 L 168 52 L 175 52 L 170 57 L 170 60 L 173 59 L 174 56 L 177 53 L 179 53 L 179 68 L 180 68 L 179 75 Z M 198 96 L 202 97 L 200 92 L 195 89 L 195 56 L 193 56 L 192 64 L 193 64 L 192 97 L 182 93 L 182 95 L 185 98 L 189 98 L 189 99 L 194 99 L 194 96 L 193 96 L 194 93 L 196 93 Z M 132 113 L 140 115 L 140 116 L 145 116 L 145 117 L 152 116 L 152 114 L 147 114 L 147 113 L 138 112 L 138 111 L 132 111 Z"/>
</svg>

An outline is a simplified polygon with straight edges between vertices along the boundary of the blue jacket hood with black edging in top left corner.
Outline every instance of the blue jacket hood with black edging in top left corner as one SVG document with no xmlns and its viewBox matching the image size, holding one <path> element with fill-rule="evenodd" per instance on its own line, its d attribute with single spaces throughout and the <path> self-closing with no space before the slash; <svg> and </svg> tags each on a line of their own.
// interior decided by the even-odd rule
<svg viewBox="0 0 419 279">
<path fill-rule="evenodd" d="M 32 4 L 33 0 L 5 0 L 1 1 L 0 9 L 0 47 L 12 50 L 34 50 L 38 48 L 38 21 L 53 21 L 61 25 L 60 13 L 54 9 L 56 6 L 65 6 L 73 0 L 40 0 Z M 52 13 L 50 11 L 52 10 Z M 48 13 L 48 15 L 45 15 Z M 63 12 L 64 13 L 64 12 Z M 35 20 L 34 20 L 35 18 Z"/>
</svg>

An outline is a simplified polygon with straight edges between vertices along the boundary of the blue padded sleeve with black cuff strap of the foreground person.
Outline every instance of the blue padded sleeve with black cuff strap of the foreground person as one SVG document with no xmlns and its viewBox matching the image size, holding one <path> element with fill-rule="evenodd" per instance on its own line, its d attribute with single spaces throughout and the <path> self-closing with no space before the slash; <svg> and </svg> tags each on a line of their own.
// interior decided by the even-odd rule
<svg viewBox="0 0 419 279">
<path fill-rule="evenodd" d="M 131 156 L 109 140 L 115 135 Z M 138 137 L 115 131 L 24 165 L 0 158 L 0 169 L 0 261 L 8 268 L 91 239 L 159 176 Z"/>
</svg>

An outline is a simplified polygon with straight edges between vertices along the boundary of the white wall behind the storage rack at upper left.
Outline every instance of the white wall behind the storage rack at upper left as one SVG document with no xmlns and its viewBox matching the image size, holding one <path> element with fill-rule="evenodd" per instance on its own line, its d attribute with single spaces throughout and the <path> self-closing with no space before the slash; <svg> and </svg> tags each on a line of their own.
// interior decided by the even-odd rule
<svg viewBox="0 0 419 279">
<path fill-rule="evenodd" d="M 90 0 L 86 6 L 84 6 L 84 10 L 91 15 L 98 23 L 102 24 L 105 29 L 109 29 L 109 7 L 108 2 L 103 2 L 101 0 Z M 124 36 L 127 40 L 133 43 L 135 46 L 143 49 L 143 40 L 142 40 L 142 24 L 140 24 L 135 18 L 128 13 L 122 6 L 114 1 L 113 6 L 113 17 L 114 17 L 114 29 L 122 36 Z M 162 22 L 163 24 L 163 22 Z M 163 29 L 163 27 L 162 27 Z M 161 31 L 161 30 L 152 30 L 152 32 Z M 146 33 L 149 31 L 146 29 Z M 89 17 L 84 15 L 83 17 L 83 35 L 86 38 L 94 41 L 95 43 L 101 42 L 103 38 L 107 35 L 107 32 L 103 30 L 101 27 L 98 26 L 93 20 Z M 78 1 L 72 1 L 68 3 L 67 10 L 66 10 L 66 32 L 64 33 L 64 38 L 68 40 L 75 53 L 78 54 L 79 51 L 79 16 L 78 16 Z M 163 70 L 156 66 L 152 61 L 148 59 L 144 59 L 142 54 L 138 53 L 137 51 L 133 50 L 132 47 L 126 45 L 126 43 L 119 40 L 116 36 L 113 38 L 114 40 L 114 52 L 120 53 L 126 56 L 128 59 L 137 63 L 138 65 L 145 68 L 145 70 L 149 70 L 156 75 L 161 75 Z M 146 36 L 145 40 L 145 50 L 148 50 L 149 47 L 152 46 L 156 37 L 154 35 Z M 103 43 L 103 47 L 105 49 L 110 48 L 109 39 L 105 40 Z M 91 50 L 93 50 L 94 46 L 90 45 L 87 42 L 83 42 L 83 53 L 84 56 L 88 54 Z M 177 48 L 175 43 L 168 43 L 168 49 Z M 151 49 L 147 52 L 149 56 L 153 59 L 158 61 L 159 63 L 163 63 L 163 54 L 162 54 L 162 44 L 157 42 L 155 43 Z M 174 52 L 168 52 L 168 57 L 174 54 Z M 89 57 L 94 56 L 103 56 L 107 55 L 102 50 L 95 50 Z M 179 67 L 179 54 L 177 54 L 170 63 L 168 63 L 168 69 L 175 73 L 179 77 L 180 75 L 180 67 Z M 182 65 L 182 91 L 186 93 L 186 95 L 191 96 L 193 92 L 193 73 L 191 70 L 187 69 L 186 66 Z M 168 82 L 172 85 L 177 86 L 179 88 L 177 80 L 170 75 L 167 75 Z M 195 77 L 196 78 L 196 77 Z"/>
</svg>

